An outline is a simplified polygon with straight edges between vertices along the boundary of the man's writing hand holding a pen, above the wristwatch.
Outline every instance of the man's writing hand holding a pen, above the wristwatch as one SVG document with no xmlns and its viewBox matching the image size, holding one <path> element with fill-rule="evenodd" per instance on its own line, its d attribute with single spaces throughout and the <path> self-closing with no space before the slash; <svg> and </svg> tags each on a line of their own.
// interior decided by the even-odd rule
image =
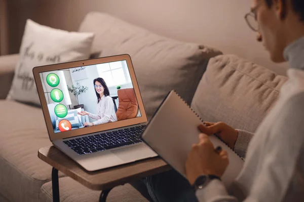
<svg viewBox="0 0 304 202">
<path fill-rule="evenodd" d="M 192 146 L 185 165 L 186 176 L 191 185 L 200 175 L 216 175 L 221 177 L 229 159 L 227 151 L 221 150 L 218 153 L 206 134 L 199 135 L 199 143 Z"/>
</svg>

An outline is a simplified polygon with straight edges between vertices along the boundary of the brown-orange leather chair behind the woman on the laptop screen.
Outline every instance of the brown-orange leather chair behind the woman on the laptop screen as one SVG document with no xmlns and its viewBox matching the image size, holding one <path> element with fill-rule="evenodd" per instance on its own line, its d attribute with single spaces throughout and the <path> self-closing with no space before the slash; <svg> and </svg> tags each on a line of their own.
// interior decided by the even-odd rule
<svg viewBox="0 0 304 202">
<path fill-rule="evenodd" d="M 133 88 L 124 88 L 117 91 L 119 106 L 116 112 L 117 120 L 135 118 L 138 113 L 138 103 Z"/>
</svg>

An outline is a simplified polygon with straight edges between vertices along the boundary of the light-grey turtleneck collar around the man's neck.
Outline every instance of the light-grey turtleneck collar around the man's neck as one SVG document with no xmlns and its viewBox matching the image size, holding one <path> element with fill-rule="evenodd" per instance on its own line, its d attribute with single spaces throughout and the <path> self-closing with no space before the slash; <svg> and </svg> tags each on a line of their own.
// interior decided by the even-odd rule
<svg viewBox="0 0 304 202">
<path fill-rule="evenodd" d="M 304 36 L 290 43 L 283 54 L 291 68 L 304 70 Z"/>
</svg>

